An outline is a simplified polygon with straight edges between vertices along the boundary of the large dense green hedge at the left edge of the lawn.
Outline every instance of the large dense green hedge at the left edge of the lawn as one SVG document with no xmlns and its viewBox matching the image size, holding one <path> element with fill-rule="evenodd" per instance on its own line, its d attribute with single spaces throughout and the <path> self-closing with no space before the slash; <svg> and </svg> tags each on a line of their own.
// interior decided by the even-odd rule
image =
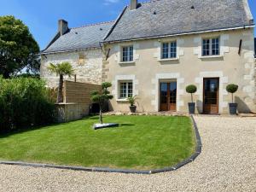
<svg viewBox="0 0 256 192">
<path fill-rule="evenodd" d="M 54 109 L 43 80 L 0 77 L 0 132 L 52 123 Z"/>
</svg>

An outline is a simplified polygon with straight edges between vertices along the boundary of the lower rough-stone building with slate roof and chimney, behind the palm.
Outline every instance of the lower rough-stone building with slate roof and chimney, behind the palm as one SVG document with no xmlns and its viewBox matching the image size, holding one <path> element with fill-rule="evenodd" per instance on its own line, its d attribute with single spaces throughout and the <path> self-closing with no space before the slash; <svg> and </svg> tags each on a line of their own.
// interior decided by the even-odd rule
<svg viewBox="0 0 256 192">
<path fill-rule="evenodd" d="M 59 30 L 41 52 L 41 78 L 49 87 L 56 87 L 59 77 L 49 73 L 49 63 L 68 61 L 72 64 L 79 82 L 102 83 L 102 48 L 100 42 L 113 22 L 69 28 L 66 20 L 59 20 Z M 66 79 L 68 79 L 66 77 Z M 73 80 L 72 77 L 70 80 Z"/>
</svg>

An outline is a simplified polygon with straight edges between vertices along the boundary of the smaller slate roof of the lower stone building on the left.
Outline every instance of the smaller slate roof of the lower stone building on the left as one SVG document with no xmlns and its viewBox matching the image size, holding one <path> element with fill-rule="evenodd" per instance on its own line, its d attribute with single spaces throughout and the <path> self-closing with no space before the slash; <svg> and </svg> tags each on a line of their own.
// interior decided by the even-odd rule
<svg viewBox="0 0 256 192">
<path fill-rule="evenodd" d="M 55 38 L 42 53 L 47 54 L 75 49 L 100 48 L 100 42 L 106 36 L 111 26 L 113 26 L 113 21 L 71 28 L 62 36 L 57 33 Z"/>
</svg>

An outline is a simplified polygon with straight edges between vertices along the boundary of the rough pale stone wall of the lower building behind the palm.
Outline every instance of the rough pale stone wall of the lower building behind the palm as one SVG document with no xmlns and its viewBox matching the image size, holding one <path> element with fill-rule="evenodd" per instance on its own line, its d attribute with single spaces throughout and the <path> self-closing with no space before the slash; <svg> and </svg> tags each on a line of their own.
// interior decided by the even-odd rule
<svg viewBox="0 0 256 192">
<path fill-rule="evenodd" d="M 41 55 L 41 78 L 45 79 L 49 87 L 58 85 L 59 77 L 49 73 L 49 63 L 68 61 L 73 66 L 78 82 L 101 84 L 102 83 L 102 49 L 86 49 L 81 51 L 53 53 Z M 74 77 L 66 80 L 74 80 Z"/>
</svg>

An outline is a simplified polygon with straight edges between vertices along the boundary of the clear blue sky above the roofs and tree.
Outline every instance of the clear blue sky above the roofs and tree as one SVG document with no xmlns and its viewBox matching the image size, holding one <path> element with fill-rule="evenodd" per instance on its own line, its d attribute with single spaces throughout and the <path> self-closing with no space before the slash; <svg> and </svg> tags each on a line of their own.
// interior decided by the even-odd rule
<svg viewBox="0 0 256 192">
<path fill-rule="evenodd" d="M 248 2 L 256 20 L 256 1 Z M 130 0 L 1 0 L 0 15 L 23 20 L 44 49 L 57 31 L 57 20 L 67 20 L 70 27 L 115 20 L 128 3 Z"/>
</svg>

